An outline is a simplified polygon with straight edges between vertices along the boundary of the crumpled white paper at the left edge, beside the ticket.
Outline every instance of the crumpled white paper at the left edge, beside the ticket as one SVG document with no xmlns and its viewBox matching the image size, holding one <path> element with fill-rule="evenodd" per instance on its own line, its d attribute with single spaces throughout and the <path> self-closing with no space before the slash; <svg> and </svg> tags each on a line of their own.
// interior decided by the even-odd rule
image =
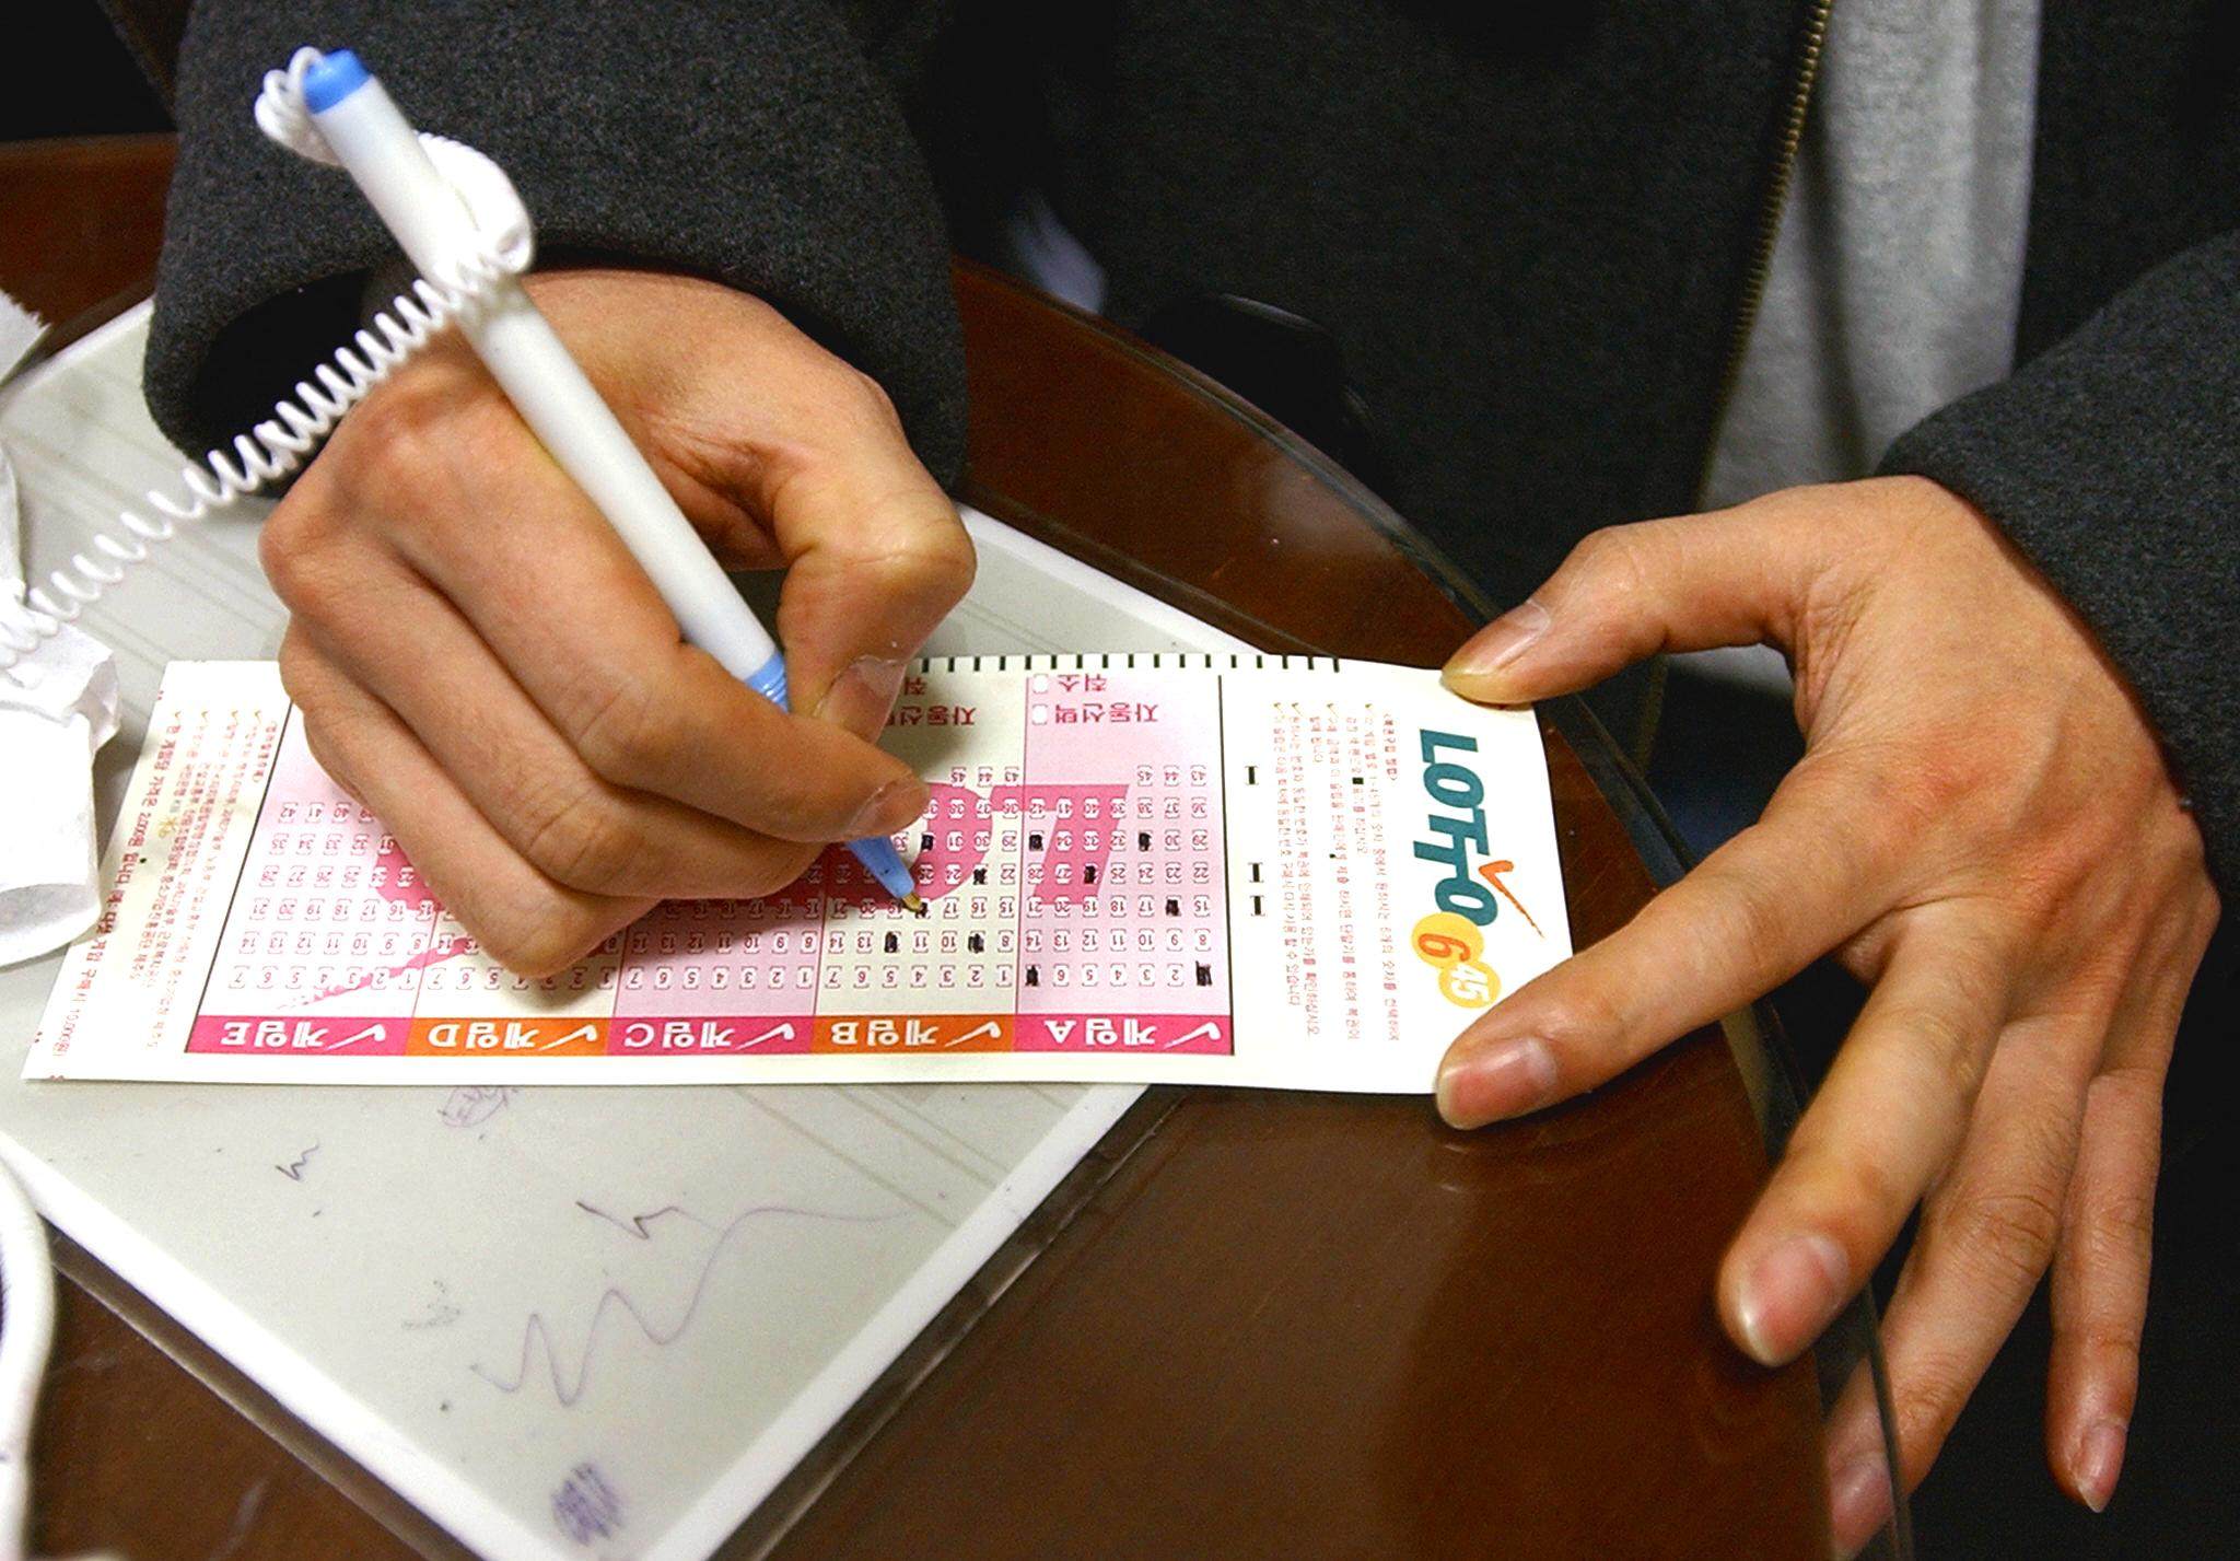
<svg viewBox="0 0 2240 1561">
<path fill-rule="evenodd" d="M 40 336 L 0 293 L 0 381 Z M 22 515 L 0 448 L 0 618 L 22 618 Z M 0 965 L 69 943 L 101 909 L 94 753 L 116 735 L 116 658 L 63 627 L 0 672 Z"/>
</svg>

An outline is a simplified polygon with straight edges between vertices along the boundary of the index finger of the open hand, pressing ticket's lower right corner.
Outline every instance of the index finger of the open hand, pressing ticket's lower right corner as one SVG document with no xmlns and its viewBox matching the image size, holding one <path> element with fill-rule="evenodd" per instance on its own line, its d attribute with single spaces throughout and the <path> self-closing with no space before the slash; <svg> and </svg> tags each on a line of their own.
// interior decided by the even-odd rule
<svg viewBox="0 0 2240 1561">
<path fill-rule="evenodd" d="M 1859 932 L 1900 847 L 1873 802 L 1870 775 L 1808 757 L 1758 824 L 1472 1023 L 1440 1062 L 1440 1115 L 1481 1127 L 1588 1091 Z"/>
</svg>

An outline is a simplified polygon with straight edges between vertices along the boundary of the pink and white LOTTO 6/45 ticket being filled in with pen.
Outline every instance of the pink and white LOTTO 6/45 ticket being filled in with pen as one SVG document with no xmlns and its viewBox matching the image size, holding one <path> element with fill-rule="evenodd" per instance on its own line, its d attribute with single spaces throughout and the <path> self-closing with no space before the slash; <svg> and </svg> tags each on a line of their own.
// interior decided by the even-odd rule
<svg viewBox="0 0 2240 1561">
<path fill-rule="evenodd" d="M 526 979 L 327 779 L 269 663 L 175 663 L 25 1075 L 1420 1093 L 1570 954 L 1539 726 L 1434 672 L 936 658 L 885 746 L 927 782 L 896 835 L 923 916 L 836 847 Z"/>
</svg>

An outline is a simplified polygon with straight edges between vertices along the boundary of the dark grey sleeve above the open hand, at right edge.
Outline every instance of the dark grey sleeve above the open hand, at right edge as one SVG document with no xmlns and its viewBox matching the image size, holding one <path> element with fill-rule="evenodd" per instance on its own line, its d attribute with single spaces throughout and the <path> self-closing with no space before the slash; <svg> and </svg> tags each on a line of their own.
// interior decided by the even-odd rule
<svg viewBox="0 0 2240 1561">
<path fill-rule="evenodd" d="M 2240 233 L 1908 430 L 1884 470 L 1976 504 L 2083 614 L 2240 896 Z"/>
</svg>

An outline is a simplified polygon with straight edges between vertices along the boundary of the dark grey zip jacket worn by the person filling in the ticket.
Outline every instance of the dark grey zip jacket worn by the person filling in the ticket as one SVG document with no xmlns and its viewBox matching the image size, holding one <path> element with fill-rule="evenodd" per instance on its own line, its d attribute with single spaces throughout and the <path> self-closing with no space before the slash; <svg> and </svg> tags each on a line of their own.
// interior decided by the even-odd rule
<svg viewBox="0 0 2240 1561">
<path fill-rule="evenodd" d="M 1691 506 L 1803 54 L 1805 0 L 204 0 L 148 356 L 164 428 L 246 426 L 390 244 L 249 101 L 356 47 L 517 181 L 547 251 L 771 298 L 963 448 L 950 244 L 1044 190 L 1140 320 L 1319 320 L 1391 497 L 1494 596 Z M 1521 11 L 1521 16 L 1519 16 Z M 2240 885 L 2240 20 L 2045 0 L 2016 374 L 1888 470 L 1982 506 L 2130 676 Z"/>
</svg>

